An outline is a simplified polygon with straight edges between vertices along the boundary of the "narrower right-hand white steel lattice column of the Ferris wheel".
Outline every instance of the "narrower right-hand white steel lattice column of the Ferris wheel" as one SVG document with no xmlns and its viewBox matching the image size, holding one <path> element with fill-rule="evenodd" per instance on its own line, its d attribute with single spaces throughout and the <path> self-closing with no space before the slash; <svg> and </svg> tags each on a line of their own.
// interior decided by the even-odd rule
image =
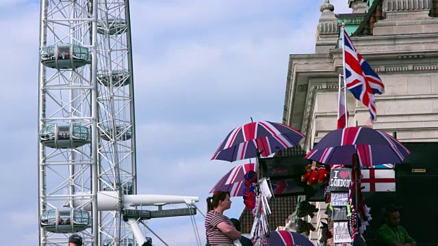
<svg viewBox="0 0 438 246">
<path fill-rule="evenodd" d="M 123 188 L 132 184 L 132 194 L 137 193 L 129 1 L 97 3 L 98 182 L 100 190 L 116 191 L 119 199 L 116 210 L 99 212 L 99 241 L 105 245 L 125 245 L 133 235 L 121 217 L 122 194 L 127 194 Z"/>
</svg>

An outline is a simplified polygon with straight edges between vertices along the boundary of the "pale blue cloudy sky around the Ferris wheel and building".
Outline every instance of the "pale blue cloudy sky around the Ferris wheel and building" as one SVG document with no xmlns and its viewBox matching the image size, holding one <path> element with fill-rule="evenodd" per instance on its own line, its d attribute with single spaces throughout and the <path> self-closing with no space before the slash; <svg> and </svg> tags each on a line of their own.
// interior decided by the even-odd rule
<svg viewBox="0 0 438 246">
<path fill-rule="evenodd" d="M 138 193 L 198 196 L 240 161 L 210 161 L 233 128 L 281 122 L 289 54 L 313 53 L 323 0 L 131 0 Z M 331 0 L 336 13 L 348 1 Z M 5 245 L 38 243 L 36 0 L 0 1 L 0 229 Z M 6 33 L 4 33 L 6 31 Z M 242 197 L 228 217 L 240 216 Z M 205 242 L 202 215 L 196 215 Z M 168 245 L 196 245 L 190 217 L 149 221 Z M 162 245 L 151 236 L 154 245 Z"/>
</svg>

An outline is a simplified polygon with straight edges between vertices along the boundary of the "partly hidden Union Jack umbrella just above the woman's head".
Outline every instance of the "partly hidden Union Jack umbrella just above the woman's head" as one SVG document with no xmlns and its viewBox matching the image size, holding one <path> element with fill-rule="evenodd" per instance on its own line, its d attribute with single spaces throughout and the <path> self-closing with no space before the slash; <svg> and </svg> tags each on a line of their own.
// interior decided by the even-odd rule
<svg viewBox="0 0 438 246">
<path fill-rule="evenodd" d="M 238 165 L 225 174 L 211 189 L 210 193 L 215 191 L 229 191 L 232 197 L 243 196 L 244 175 L 249 171 L 255 171 L 254 163 Z"/>
</svg>

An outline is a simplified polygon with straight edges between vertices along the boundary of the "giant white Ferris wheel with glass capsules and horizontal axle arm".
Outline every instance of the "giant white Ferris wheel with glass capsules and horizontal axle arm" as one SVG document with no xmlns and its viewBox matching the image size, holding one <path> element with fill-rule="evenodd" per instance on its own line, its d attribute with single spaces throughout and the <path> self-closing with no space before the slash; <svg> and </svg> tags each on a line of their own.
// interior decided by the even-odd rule
<svg viewBox="0 0 438 246">
<path fill-rule="evenodd" d="M 197 197 L 136 195 L 129 1 L 42 0 L 39 47 L 39 244 L 143 245 L 139 222 L 166 216 L 136 206 L 196 213 Z"/>
</svg>

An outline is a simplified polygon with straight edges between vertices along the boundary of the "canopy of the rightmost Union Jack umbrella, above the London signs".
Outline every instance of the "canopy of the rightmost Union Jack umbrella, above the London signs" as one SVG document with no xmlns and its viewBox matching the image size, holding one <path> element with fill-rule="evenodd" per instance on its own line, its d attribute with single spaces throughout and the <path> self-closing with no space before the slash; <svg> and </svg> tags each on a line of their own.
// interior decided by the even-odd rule
<svg viewBox="0 0 438 246">
<path fill-rule="evenodd" d="M 352 165 L 352 154 L 355 153 L 359 155 L 363 167 L 402 163 L 411 154 L 387 133 L 368 127 L 348 127 L 327 134 L 305 159 L 324 164 Z"/>
</svg>

